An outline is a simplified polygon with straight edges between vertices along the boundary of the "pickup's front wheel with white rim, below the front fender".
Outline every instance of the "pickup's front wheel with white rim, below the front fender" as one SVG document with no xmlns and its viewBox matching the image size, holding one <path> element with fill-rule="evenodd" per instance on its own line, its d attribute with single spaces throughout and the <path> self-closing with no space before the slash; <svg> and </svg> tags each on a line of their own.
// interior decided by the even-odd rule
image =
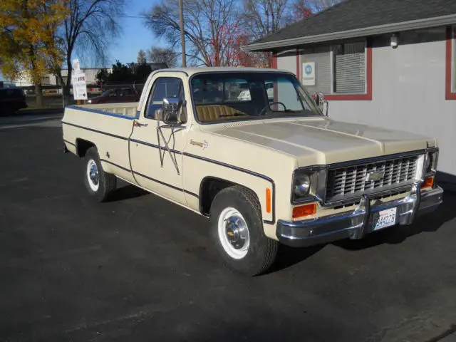
<svg viewBox="0 0 456 342">
<path fill-rule="evenodd" d="M 255 276 L 274 263 L 278 242 L 264 235 L 261 209 L 251 190 L 233 186 L 220 191 L 210 209 L 212 240 L 225 264 Z"/>
</svg>

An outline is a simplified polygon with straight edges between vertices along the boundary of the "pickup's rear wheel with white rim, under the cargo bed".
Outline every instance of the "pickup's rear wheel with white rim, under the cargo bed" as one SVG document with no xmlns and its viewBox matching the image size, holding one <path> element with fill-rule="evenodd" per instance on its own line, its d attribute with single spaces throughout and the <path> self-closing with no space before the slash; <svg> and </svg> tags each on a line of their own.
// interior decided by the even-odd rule
<svg viewBox="0 0 456 342">
<path fill-rule="evenodd" d="M 91 197 L 98 202 L 105 202 L 115 190 L 117 178 L 103 171 L 96 147 L 90 147 L 84 156 L 84 182 Z"/>
</svg>

